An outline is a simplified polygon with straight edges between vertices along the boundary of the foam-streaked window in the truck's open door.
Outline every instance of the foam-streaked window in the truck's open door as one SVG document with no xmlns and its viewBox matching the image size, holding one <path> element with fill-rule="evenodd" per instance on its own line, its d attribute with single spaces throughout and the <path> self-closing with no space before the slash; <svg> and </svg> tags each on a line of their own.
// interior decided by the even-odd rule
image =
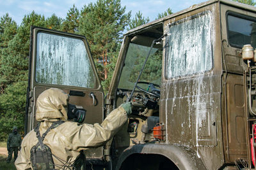
<svg viewBox="0 0 256 170">
<path fill-rule="evenodd" d="M 95 75 L 83 40 L 38 32 L 35 80 L 94 88 Z"/>
</svg>

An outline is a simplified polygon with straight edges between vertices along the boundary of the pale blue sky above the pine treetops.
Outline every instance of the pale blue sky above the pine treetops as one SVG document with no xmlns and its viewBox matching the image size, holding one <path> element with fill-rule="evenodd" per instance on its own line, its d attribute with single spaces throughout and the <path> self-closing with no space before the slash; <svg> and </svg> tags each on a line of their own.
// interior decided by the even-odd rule
<svg viewBox="0 0 256 170">
<path fill-rule="evenodd" d="M 0 0 L 0 16 L 9 13 L 10 17 L 20 25 L 24 15 L 31 11 L 51 17 L 53 13 L 58 17 L 65 18 L 68 10 L 73 4 L 81 10 L 85 4 L 95 3 L 97 0 Z M 127 11 L 131 11 L 132 17 L 141 11 L 143 17 L 148 17 L 150 21 L 157 18 L 158 13 L 163 13 L 171 8 L 175 13 L 189 8 L 193 4 L 202 3 L 206 0 L 121 0 L 122 6 L 126 6 Z"/>
</svg>

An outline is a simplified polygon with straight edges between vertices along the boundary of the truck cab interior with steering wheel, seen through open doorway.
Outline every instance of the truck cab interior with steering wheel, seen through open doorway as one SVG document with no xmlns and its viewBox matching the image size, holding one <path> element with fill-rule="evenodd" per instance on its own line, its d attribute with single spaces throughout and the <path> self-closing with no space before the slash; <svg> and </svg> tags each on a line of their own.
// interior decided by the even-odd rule
<svg viewBox="0 0 256 170">
<path fill-rule="evenodd" d="M 113 148 L 118 148 L 116 150 L 118 152 L 114 153 L 116 157 L 129 146 L 155 143 L 158 140 L 153 136 L 153 129 L 159 124 L 164 38 L 153 46 L 152 42 L 161 36 L 163 36 L 163 24 L 129 37 L 129 47 L 125 52 L 125 62 L 120 74 L 114 106 L 130 100 L 132 116 L 128 124 L 115 136 L 116 142 Z M 145 62 L 149 53 L 147 62 Z M 140 73 L 141 76 L 138 79 Z M 136 88 L 132 94 L 135 84 Z"/>
</svg>

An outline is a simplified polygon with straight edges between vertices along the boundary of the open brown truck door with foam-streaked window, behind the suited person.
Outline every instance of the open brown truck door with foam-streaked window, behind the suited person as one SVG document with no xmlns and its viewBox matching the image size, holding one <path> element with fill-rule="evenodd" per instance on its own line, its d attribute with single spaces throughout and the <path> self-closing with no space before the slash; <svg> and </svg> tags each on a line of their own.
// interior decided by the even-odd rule
<svg viewBox="0 0 256 170">
<path fill-rule="evenodd" d="M 31 27 L 29 82 L 25 132 L 37 124 L 36 99 L 51 87 L 70 95 L 70 103 L 83 106 L 83 123 L 102 123 L 104 93 L 84 36 Z M 103 147 L 86 150 L 86 158 L 101 159 Z"/>
</svg>

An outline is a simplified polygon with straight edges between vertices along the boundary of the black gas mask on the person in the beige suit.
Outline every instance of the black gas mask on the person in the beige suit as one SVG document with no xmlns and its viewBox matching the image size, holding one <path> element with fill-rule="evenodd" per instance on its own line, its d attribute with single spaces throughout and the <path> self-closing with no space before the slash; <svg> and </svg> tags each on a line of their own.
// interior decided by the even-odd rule
<svg viewBox="0 0 256 170">
<path fill-rule="evenodd" d="M 86 111 L 82 106 L 68 104 L 68 120 L 74 120 L 74 122 L 82 124 L 84 122 L 85 115 Z"/>
</svg>

